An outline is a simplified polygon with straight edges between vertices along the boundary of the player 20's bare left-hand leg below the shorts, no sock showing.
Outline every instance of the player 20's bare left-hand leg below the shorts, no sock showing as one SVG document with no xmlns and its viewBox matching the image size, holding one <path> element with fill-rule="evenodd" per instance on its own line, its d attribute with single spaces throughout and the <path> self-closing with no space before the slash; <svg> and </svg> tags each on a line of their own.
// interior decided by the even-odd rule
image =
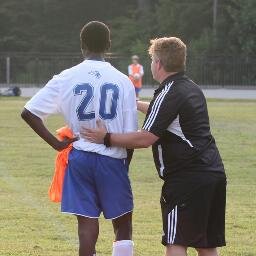
<svg viewBox="0 0 256 256">
<path fill-rule="evenodd" d="M 95 245 L 99 234 L 99 222 L 96 218 L 77 216 L 79 236 L 79 256 L 95 254 Z"/>
</svg>

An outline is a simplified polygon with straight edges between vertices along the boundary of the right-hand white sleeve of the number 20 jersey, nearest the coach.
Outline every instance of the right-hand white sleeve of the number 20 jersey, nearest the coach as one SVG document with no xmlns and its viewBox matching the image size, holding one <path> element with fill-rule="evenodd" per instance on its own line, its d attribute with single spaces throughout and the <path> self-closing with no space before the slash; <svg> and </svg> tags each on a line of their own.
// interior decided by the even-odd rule
<svg viewBox="0 0 256 256">
<path fill-rule="evenodd" d="M 134 132 L 138 130 L 138 116 L 135 90 L 130 79 L 125 81 L 123 101 L 123 132 Z"/>
</svg>

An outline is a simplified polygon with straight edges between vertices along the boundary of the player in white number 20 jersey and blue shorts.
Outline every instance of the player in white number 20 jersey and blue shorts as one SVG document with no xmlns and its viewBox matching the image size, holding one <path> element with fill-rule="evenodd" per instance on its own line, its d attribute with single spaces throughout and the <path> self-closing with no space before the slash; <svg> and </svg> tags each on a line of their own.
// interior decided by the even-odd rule
<svg viewBox="0 0 256 256">
<path fill-rule="evenodd" d="M 109 132 L 137 130 L 137 108 L 129 78 L 104 61 L 110 48 L 110 31 L 92 21 L 81 30 L 85 60 L 54 76 L 24 107 L 22 118 L 55 150 L 70 143 L 61 211 L 78 220 L 79 255 L 95 255 L 99 233 L 98 218 L 103 212 L 113 223 L 113 256 L 132 256 L 133 196 L 128 178 L 126 148 L 106 147 L 79 137 L 81 127 L 94 128 L 96 120 Z M 44 125 L 44 119 L 60 113 L 77 136 L 59 141 Z"/>
</svg>

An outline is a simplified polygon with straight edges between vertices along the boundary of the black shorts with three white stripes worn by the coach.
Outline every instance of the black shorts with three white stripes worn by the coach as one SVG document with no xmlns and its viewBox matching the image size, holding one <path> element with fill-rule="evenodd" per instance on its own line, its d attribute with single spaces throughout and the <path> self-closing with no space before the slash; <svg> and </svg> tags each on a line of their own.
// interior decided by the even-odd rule
<svg viewBox="0 0 256 256">
<path fill-rule="evenodd" d="M 163 245 L 225 246 L 226 176 L 187 173 L 162 188 Z"/>
</svg>

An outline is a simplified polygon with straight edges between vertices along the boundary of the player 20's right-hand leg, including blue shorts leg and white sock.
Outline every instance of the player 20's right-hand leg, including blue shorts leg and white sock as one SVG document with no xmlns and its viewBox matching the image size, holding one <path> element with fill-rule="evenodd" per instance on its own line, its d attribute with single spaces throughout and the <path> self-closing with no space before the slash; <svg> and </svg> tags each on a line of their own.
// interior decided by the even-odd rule
<svg viewBox="0 0 256 256">
<path fill-rule="evenodd" d="M 122 159 L 98 157 L 96 184 L 104 217 L 111 219 L 116 241 L 113 256 L 132 256 L 133 195 L 128 166 Z M 121 216 L 121 217 L 120 217 Z"/>
</svg>

